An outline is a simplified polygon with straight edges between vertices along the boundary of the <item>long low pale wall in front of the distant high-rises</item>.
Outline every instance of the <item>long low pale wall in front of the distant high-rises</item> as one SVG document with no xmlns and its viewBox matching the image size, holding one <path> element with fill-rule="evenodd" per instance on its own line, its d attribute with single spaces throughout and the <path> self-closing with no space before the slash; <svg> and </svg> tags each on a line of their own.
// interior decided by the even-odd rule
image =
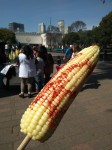
<svg viewBox="0 0 112 150">
<path fill-rule="evenodd" d="M 46 47 L 59 46 L 62 44 L 62 34 L 54 33 L 27 33 L 27 32 L 15 32 L 17 42 L 21 44 L 42 44 Z"/>
</svg>

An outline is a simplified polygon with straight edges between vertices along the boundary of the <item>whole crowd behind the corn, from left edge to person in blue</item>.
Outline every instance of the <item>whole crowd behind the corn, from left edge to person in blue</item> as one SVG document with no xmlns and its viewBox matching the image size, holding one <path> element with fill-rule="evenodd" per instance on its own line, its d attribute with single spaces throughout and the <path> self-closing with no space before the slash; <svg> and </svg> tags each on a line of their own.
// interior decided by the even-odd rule
<svg viewBox="0 0 112 150">
<path fill-rule="evenodd" d="M 11 51 L 10 51 L 11 52 Z M 14 51 L 15 53 L 15 51 Z M 65 56 L 63 60 L 75 57 L 77 53 L 77 48 L 75 45 L 70 45 L 65 50 Z M 35 87 L 35 91 L 38 93 L 45 86 L 45 84 L 50 80 L 51 74 L 53 73 L 54 60 L 51 53 L 48 53 L 47 48 L 43 45 L 24 45 L 19 47 L 18 52 L 16 52 L 14 63 L 18 65 L 19 78 L 20 78 L 20 93 L 19 97 L 24 98 L 26 85 L 27 85 L 27 95 L 32 97 L 32 89 Z M 0 72 L 10 63 L 10 53 L 7 52 L 4 45 L 0 44 Z M 61 68 L 61 57 L 57 57 L 57 71 Z M 7 84 L 4 85 L 3 78 L 4 75 L 0 73 L 0 88 L 8 88 L 9 81 L 12 76 L 16 76 L 16 71 L 14 67 L 11 66 L 8 73 L 5 75 L 7 78 Z M 34 85 L 34 87 L 33 87 Z"/>
</svg>

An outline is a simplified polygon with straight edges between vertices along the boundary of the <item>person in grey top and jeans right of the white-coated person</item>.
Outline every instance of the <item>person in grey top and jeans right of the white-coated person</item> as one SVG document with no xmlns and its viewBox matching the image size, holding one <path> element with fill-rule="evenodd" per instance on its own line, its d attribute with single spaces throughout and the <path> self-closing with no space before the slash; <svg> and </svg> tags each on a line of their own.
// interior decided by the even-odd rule
<svg viewBox="0 0 112 150">
<path fill-rule="evenodd" d="M 40 92 L 44 87 L 44 60 L 42 59 L 42 53 L 40 51 L 36 51 L 36 76 L 35 76 L 35 87 L 36 92 Z"/>
</svg>

